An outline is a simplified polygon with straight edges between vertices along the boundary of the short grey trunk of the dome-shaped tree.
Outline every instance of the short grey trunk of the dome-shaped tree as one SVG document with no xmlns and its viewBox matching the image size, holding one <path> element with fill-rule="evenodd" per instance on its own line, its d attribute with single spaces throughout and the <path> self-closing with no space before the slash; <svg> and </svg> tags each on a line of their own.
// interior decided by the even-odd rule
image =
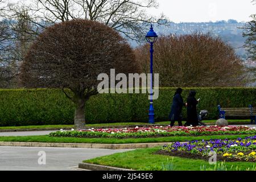
<svg viewBox="0 0 256 182">
<path fill-rule="evenodd" d="M 75 126 L 76 129 L 85 129 L 85 100 L 77 101 L 75 110 Z"/>
</svg>

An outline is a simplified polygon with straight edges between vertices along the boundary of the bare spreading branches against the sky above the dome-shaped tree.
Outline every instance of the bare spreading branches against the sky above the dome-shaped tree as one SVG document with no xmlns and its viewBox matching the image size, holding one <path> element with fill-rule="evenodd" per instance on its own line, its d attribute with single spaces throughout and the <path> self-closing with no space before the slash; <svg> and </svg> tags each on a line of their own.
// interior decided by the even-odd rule
<svg viewBox="0 0 256 182">
<path fill-rule="evenodd" d="M 159 18 L 147 15 L 148 8 L 158 7 L 155 0 L 33 0 L 30 5 L 20 1 L 19 4 L 9 4 L 5 16 L 20 16 L 21 7 L 28 9 L 27 20 L 38 30 L 53 23 L 82 18 L 104 23 L 137 41 L 144 40 L 148 23 L 164 18 L 163 15 Z"/>
</svg>

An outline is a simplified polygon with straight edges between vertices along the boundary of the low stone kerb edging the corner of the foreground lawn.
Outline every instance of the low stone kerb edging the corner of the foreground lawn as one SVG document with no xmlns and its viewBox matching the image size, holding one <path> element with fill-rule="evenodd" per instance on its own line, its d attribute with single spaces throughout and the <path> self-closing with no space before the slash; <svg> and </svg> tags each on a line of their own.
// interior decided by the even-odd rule
<svg viewBox="0 0 256 182">
<path fill-rule="evenodd" d="M 79 163 L 79 168 L 80 169 L 87 169 L 87 170 L 90 170 L 90 171 L 135 171 L 135 170 L 132 170 L 132 169 L 102 166 L 102 165 L 89 164 L 89 163 Z"/>
</svg>

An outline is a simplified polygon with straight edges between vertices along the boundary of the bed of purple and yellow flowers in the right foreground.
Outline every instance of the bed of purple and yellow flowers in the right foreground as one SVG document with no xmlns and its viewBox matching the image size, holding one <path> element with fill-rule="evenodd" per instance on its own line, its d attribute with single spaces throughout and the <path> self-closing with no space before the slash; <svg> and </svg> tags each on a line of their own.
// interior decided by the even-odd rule
<svg viewBox="0 0 256 182">
<path fill-rule="evenodd" d="M 216 152 L 220 161 L 246 161 L 256 162 L 256 135 L 245 139 L 210 141 L 192 141 L 186 143 L 175 142 L 170 146 L 164 146 L 156 154 L 180 156 L 183 158 L 206 159 L 210 158 L 210 152 Z"/>
</svg>

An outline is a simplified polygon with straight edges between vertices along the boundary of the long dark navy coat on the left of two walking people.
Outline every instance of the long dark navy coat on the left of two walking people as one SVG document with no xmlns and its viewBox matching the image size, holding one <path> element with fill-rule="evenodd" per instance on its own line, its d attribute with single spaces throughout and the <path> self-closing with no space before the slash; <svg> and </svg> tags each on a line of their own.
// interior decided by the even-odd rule
<svg viewBox="0 0 256 182">
<path fill-rule="evenodd" d="M 169 119 L 171 121 L 181 120 L 181 111 L 184 105 L 181 95 L 179 93 L 175 94 L 174 99 L 172 100 L 171 113 L 169 114 Z"/>
</svg>

